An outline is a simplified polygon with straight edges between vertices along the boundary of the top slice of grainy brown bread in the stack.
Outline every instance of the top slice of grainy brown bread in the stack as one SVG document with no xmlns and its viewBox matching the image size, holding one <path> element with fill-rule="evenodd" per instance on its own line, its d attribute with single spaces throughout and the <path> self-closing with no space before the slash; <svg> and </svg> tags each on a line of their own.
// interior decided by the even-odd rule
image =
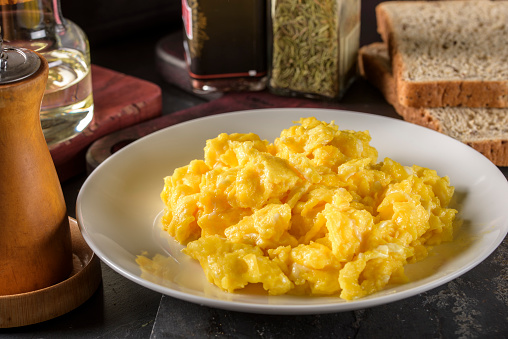
<svg viewBox="0 0 508 339">
<path fill-rule="evenodd" d="M 376 16 L 401 105 L 508 107 L 508 1 L 389 1 Z"/>
</svg>

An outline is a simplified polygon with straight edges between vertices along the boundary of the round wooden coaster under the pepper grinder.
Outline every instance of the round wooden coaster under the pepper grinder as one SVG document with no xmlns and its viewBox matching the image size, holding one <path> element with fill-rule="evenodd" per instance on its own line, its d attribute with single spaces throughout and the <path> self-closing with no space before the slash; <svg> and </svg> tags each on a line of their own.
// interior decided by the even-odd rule
<svg viewBox="0 0 508 339">
<path fill-rule="evenodd" d="M 37 291 L 0 296 L 0 328 L 19 327 L 63 315 L 88 300 L 101 280 L 99 258 L 83 239 L 76 220 L 69 218 L 74 268 L 71 276 Z"/>
</svg>

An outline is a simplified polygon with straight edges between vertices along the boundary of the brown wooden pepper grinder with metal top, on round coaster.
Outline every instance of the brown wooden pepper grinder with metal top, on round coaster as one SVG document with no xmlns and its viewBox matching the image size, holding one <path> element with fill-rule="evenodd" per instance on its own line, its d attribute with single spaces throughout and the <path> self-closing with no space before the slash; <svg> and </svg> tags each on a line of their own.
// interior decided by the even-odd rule
<svg viewBox="0 0 508 339">
<path fill-rule="evenodd" d="M 48 63 L 0 36 L 0 296 L 67 279 L 72 243 L 39 111 Z"/>
</svg>

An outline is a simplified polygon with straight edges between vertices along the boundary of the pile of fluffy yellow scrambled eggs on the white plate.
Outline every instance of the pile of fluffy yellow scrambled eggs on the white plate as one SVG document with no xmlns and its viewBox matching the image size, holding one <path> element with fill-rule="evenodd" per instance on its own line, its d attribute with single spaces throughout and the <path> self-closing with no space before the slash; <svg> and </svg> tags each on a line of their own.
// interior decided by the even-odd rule
<svg viewBox="0 0 508 339">
<path fill-rule="evenodd" d="M 452 240 L 454 188 L 427 168 L 377 163 L 370 139 L 315 118 L 273 143 L 220 134 L 165 178 L 164 230 L 229 292 L 352 300 L 404 282 L 404 265 Z"/>
</svg>

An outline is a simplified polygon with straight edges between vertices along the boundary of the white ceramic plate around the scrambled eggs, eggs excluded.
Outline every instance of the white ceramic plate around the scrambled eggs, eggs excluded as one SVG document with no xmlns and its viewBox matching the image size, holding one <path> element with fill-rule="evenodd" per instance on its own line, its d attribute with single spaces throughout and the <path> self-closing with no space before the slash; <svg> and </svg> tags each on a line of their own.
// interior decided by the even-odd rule
<svg viewBox="0 0 508 339">
<path fill-rule="evenodd" d="M 173 169 L 203 158 L 205 141 L 219 133 L 254 132 L 273 141 L 293 121 L 315 116 L 335 121 L 340 129 L 369 130 L 379 160 L 390 157 L 448 175 L 465 220 L 457 240 L 437 255 L 407 267 L 413 281 L 366 298 L 346 302 L 338 297 L 265 296 L 226 293 L 206 282 L 196 262 L 185 260 L 157 233 L 163 209 L 163 178 Z M 414 296 L 469 271 L 501 243 L 508 231 L 508 182 L 499 169 L 472 148 L 437 132 L 403 121 L 340 110 L 266 109 L 227 113 L 181 123 L 150 134 L 120 150 L 84 183 L 77 200 L 77 219 L 92 250 L 128 279 L 169 296 L 228 310 L 270 314 L 313 314 L 372 307 Z M 155 225 L 155 226 L 154 226 Z M 155 227 L 155 232 L 154 232 Z M 162 244 L 162 246 L 161 246 Z M 143 251 L 177 261 L 167 279 L 141 277 L 135 262 Z M 135 297 L 135 296 L 133 296 Z"/>
</svg>

